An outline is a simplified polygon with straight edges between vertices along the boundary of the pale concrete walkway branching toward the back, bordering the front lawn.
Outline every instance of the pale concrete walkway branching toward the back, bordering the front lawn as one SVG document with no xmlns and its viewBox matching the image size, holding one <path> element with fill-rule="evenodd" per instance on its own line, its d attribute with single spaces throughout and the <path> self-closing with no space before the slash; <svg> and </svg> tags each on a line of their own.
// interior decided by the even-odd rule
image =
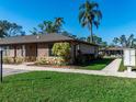
<svg viewBox="0 0 136 102">
<path fill-rule="evenodd" d="M 83 70 L 83 69 L 68 69 L 68 68 L 50 68 L 50 67 L 36 67 L 26 65 L 4 65 L 3 68 L 27 70 L 27 71 L 58 71 L 58 72 L 73 72 L 73 73 L 86 73 L 86 75 L 99 75 L 99 76 L 114 76 L 125 78 L 136 78 L 136 72 L 117 72 L 121 64 L 121 59 L 113 60 L 103 70 Z"/>
</svg>

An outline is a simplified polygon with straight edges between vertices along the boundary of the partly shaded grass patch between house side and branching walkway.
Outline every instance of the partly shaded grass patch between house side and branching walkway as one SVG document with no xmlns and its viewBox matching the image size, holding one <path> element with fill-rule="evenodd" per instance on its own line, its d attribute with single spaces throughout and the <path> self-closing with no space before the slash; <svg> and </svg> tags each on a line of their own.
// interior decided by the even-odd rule
<svg viewBox="0 0 136 102">
<path fill-rule="evenodd" d="M 113 58 L 95 59 L 95 60 L 91 61 L 90 64 L 82 65 L 78 68 L 79 69 L 88 69 L 88 70 L 102 70 L 104 67 L 106 67 L 112 61 L 113 61 Z"/>
</svg>

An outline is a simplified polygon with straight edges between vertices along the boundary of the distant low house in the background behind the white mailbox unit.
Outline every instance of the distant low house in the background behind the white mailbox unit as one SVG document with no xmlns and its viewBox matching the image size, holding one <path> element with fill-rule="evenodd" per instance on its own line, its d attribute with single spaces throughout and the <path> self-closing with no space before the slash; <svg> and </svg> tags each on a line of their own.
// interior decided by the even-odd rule
<svg viewBox="0 0 136 102">
<path fill-rule="evenodd" d="M 101 49 L 101 53 L 103 53 L 104 56 L 122 57 L 123 48 L 122 47 L 106 47 L 106 48 Z"/>
</svg>

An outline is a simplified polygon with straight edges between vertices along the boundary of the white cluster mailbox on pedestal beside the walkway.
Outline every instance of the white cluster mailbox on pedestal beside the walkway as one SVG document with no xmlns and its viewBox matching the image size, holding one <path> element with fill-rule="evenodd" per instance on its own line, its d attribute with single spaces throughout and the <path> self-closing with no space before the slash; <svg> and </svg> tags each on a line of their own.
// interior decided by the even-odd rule
<svg viewBox="0 0 136 102">
<path fill-rule="evenodd" d="M 127 67 L 127 71 L 132 71 L 132 67 L 136 66 L 136 50 L 134 48 L 124 49 L 124 66 Z"/>
</svg>

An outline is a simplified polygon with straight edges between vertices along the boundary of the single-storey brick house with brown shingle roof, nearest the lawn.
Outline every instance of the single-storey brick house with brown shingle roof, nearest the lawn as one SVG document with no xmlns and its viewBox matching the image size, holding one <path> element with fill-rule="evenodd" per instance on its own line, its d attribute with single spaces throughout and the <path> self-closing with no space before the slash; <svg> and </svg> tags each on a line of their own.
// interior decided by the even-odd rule
<svg viewBox="0 0 136 102">
<path fill-rule="evenodd" d="M 68 42 L 71 45 L 71 59 L 75 61 L 78 50 L 82 54 L 98 56 L 99 46 L 82 41 L 77 41 L 60 34 L 43 34 L 7 37 L 0 39 L 3 55 L 8 57 L 25 57 L 27 61 L 36 60 L 36 57 L 50 57 L 54 43 Z M 32 59 L 33 58 L 33 59 Z"/>
</svg>

